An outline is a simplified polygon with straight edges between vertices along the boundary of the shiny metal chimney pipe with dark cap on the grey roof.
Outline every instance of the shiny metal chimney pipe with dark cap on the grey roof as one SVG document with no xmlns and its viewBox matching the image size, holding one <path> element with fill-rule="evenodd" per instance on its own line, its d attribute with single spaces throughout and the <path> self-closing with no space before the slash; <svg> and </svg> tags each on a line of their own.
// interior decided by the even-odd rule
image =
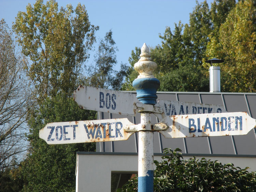
<svg viewBox="0 0 256 192">
<path fill-rule="evenodd" d="M 212 63 L 223 63 L 221 59 L 210 59 L 205 61 L 211 64 L 210 72 L 210 92 L 221 92 L 221 68 L 212 66 Z"/>
</svg>

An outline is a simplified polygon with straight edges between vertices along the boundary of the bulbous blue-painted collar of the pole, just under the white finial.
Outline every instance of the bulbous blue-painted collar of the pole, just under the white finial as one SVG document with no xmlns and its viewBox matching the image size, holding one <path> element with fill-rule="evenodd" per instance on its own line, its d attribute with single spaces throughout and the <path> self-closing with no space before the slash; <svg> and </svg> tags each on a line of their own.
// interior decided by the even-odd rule
<svg viewBox="0 0 256 192">
<path fill-rule="evenodd" d="M 134 79 L 132 86 L 136 89 L 137 98 L 143 104 L 156 104 L 156 90 L 160 86 L 157 78 L 139 78 Z"/>
</svg>

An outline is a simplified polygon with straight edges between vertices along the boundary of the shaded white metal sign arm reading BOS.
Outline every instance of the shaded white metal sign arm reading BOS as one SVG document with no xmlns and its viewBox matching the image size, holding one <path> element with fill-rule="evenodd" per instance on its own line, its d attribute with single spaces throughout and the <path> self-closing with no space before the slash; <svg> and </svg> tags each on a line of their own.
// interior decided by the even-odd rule
<svg viewBox="0 0 256 192">
<path fill-rule="evenodd" d="M 87 86 L 74 91 L 74 100 L 84 109 L 129 116 L 136 115 L 139 102 L 136 94 Z"/>
</svg>

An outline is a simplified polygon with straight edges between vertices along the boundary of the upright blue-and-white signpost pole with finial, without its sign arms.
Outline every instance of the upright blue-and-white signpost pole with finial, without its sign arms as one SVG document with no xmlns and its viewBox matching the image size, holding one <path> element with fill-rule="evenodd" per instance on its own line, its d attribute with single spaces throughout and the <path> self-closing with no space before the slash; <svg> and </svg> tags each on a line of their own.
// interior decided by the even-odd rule
<svg viewBox="0 0 256 192">
<path fill-rule="evenodd" d="M 141 124 L 137 127 L 139 131 L 138 191 L 153 192 L 154 153 L 151 113 L 153 105 L 156 104 L 156 90 L 160 86 L 160 82 L 153 75 L 157 64 L 151 61 L 149 48 L 145 43 L 141 48 L 140 57 L 140 60 L 134 64 L 134 69 L 139 72 L 139 76 L 132 83 L 136 89 L 138 100 L 146 104 L 143 111 L 139 111 L 141 112 Z"/>
</svg>

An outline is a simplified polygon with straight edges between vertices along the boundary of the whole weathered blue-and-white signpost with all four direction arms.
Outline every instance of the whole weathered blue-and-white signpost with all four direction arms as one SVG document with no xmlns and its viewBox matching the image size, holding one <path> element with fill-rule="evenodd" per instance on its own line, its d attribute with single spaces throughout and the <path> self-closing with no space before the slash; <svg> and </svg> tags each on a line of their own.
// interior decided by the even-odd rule
<svg viewBox="0 0 256 192">
<path fill-rule="evenodd" d="M 245 112 L 226 113 L 220 105 L 156 102 L 160 82 L 153 75 L 157 65 L 151 61 L 146 44 L 141 48 L 140 57 L 134 64 L 134 69 L 139 72 L 133 81 L 137 96 L 86 86 L 74 91 L 74 100 L 81 108 L 128 116 L 140 112 L 140 124 L 132 124 L 127 118 L 48 123 L 39 131 L 39 137 L 47 144 L 67 144 L 122 141 L 139 132 L 138 191 L 153 192 L 154 131 L 165 138 L 244 135 L 255 128 L 256 120 Z M 158 117 L 159 123 L 151 123 L 152 113 Z"/>
</svg>

